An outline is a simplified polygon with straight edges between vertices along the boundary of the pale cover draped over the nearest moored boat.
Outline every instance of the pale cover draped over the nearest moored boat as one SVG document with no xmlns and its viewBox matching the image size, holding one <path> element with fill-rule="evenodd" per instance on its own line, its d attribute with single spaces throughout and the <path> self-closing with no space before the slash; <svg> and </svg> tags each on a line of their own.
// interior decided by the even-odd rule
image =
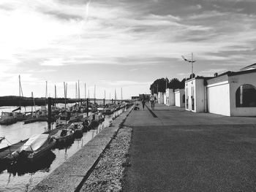
<svg viewBox="0 0 256 192">
<path fill-rule="evenodd" d="M 34 134 L 29 140 L 20 147 L 20 151 L 35 151 L 38 150 L 39 147 L 45 144 L 48 141 L 49 134 Z"/>
</svg>

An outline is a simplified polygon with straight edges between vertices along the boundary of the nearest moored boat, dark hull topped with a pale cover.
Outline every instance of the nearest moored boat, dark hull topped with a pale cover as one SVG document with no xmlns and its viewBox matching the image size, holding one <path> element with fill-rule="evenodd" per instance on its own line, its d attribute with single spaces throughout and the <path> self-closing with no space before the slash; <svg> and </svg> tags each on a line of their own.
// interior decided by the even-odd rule
<svg viewBox="0 0 256 192">
<path fill-rule="evenodd" d="M 49 134 L 34 134 L 18 150 L 7 156 L 7 161 L 35 161 L 45 155 L 54 145 L 56 139 Z"/>
</svg>

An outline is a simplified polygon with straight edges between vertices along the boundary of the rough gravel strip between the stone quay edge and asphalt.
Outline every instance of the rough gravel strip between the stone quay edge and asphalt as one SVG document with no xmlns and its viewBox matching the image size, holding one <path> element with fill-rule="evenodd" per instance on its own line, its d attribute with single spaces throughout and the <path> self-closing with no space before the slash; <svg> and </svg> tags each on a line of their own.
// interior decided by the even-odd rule
<svg viewBox="0 0 256 192">
<path fill-rule="evenodd" d="M 121 191 L 131 135 L 132 128 L 119 129 L 80 191 Z"/>
</svg>

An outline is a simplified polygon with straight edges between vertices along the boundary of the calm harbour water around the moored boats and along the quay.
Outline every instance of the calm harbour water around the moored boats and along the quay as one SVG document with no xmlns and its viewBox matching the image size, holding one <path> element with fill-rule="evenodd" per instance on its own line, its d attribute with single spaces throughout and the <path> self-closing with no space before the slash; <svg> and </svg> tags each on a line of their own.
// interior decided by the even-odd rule
<svg viewBox="0 0 256 192">
<path fill-rule="evenodd" d="M 29 164 L 29 166 L 17 166 L 12 167 L 12 169 L 5 169 L 2 172 L 0 171 L 0 191 L 14 192 L 31 190 L 31 188 L 37 185 L 40 180 L 50 174 L 50 172 L 53 172 L 56 167 L 63 164 L 64 161 L 67 161 L 67 159 L 80 150 L 83 145 L 86 145 L 87 142 L 99 134 L 103 128 L 110 126 L 113 118 L 116 118 L 116 116 L 120 115 L 122 112 L 124 112 L 124 109 L 115 112 L 113 115 L 107 115 L 105 121 L 99 124 L 96 129 L 83 133 L 82 138 L 75 139 L 75 141 L 68 147 L 51 150 L 44 159 L 40 159 L 40 161 L 35 164 Z M 29 127 L 26 127 L 26 125 L 21 126 L 20 123 L 15 123 L 6 128 L 1 126 L 0 130 L 3 131 L 4 129 L 7 129 L 9 132 L 12 132 L 12 134 L 22 133 L 19 134 L 20 137 L 21 135 L 22 137 L 25 137 L 23 136 L 23 132 L 27 135 L 34 134 L 35 131 L 38 131 L 38 133 L 44 132 L 45 125 L 46 123 L 37 122 L 28 124 Z"/>
</svg>

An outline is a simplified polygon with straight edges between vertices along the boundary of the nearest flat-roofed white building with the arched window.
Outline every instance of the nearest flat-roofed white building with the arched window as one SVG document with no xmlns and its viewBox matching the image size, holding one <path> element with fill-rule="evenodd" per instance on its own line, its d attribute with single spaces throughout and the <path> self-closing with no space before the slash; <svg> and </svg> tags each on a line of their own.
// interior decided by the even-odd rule
<svg viewBox="0 0 256 192">
<path fill-rule="evenodd" d="M 208 112 L 256 116 L 256 69 L 226 72 L 207 80 Z"/>
</svg>

